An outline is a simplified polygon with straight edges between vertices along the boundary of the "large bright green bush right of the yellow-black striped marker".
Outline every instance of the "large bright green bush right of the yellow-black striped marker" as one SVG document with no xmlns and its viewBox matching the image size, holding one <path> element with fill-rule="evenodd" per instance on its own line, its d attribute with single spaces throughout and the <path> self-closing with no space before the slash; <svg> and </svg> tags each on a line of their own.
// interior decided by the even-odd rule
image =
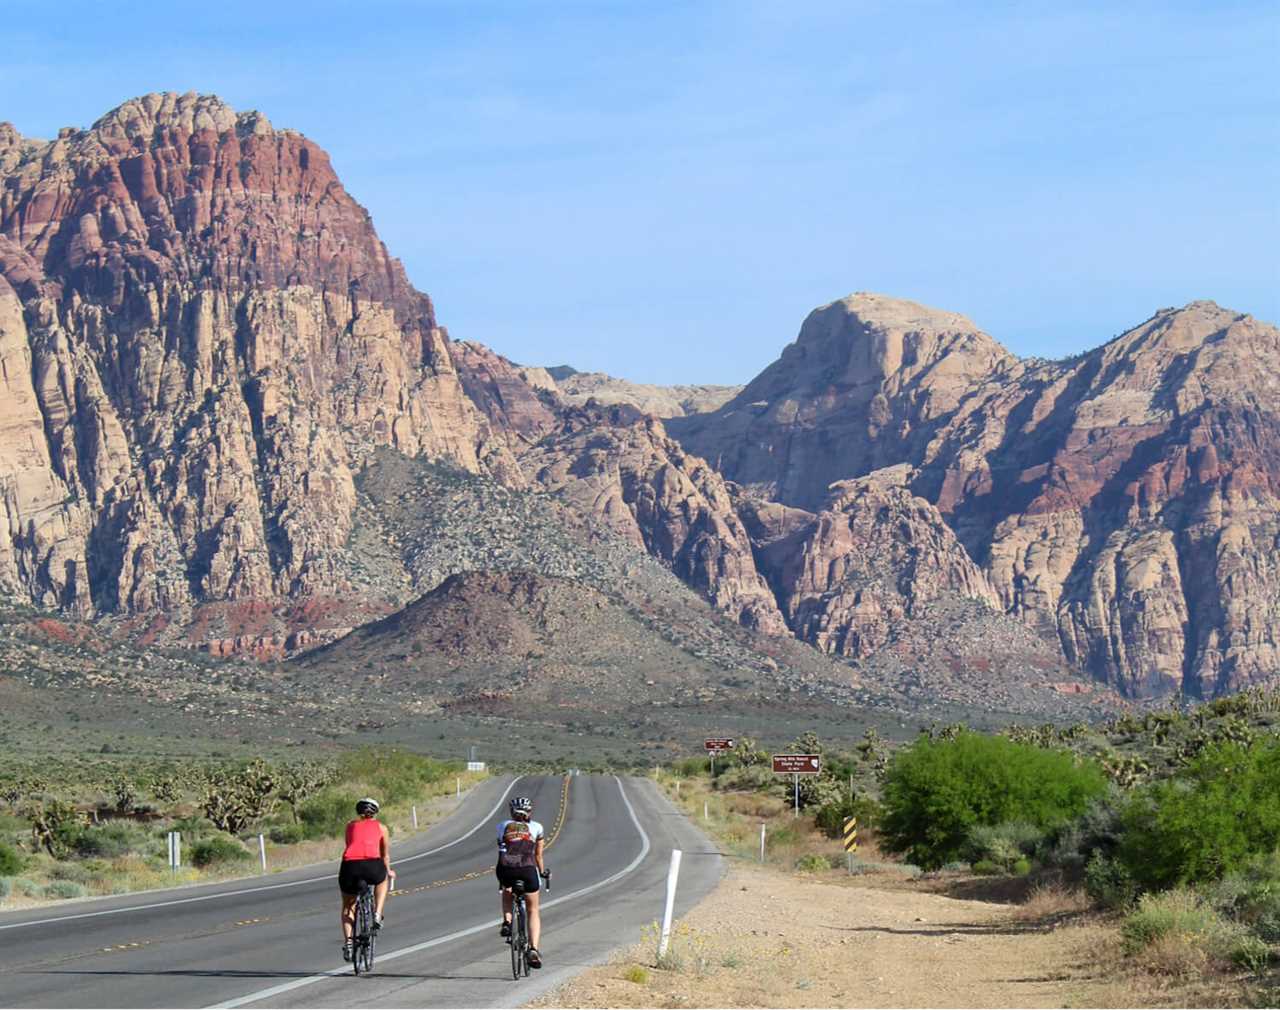
<svg viewBox="0 0 1280 1010">
<path fill-rule="evenodd" d="M 890 762 L 879 835 L 888 851 L 938 869 L 960 858 L 978 824 L 1021 821 L 1047 830 L 1106 790 L 1096 764 L 1062 751 L 973 732 L 922 736 Z"/>
</svg>

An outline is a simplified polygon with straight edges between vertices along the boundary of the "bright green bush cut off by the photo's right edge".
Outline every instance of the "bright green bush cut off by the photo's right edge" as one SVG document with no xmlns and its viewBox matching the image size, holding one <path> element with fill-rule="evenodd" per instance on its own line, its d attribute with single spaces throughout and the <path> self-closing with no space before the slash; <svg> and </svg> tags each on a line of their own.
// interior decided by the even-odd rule
<svg viewBox="0 0 1280 1010">
<path fill-rule="evenodd" d="M 1117 855 L 1151 890 L 1243 868 L 1280 846 L 1276 782 L 1280 739 L 1211 745 L 1176 777 L 1133 798 Z"/>
</svg>

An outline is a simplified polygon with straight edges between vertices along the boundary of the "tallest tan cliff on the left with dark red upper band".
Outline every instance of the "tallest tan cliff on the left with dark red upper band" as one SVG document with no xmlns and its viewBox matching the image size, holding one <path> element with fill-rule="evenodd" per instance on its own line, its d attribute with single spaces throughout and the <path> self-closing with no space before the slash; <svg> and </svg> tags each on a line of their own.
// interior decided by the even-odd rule
<svg viewBox="0 0 1280 1010">
<path fill-rule="evenodd" d="M 0 581 L 84 613 L 340 591 L 378 445 L 518 481 L 306 138 L 150 95 L 0 136 Z"/>
</svg>

